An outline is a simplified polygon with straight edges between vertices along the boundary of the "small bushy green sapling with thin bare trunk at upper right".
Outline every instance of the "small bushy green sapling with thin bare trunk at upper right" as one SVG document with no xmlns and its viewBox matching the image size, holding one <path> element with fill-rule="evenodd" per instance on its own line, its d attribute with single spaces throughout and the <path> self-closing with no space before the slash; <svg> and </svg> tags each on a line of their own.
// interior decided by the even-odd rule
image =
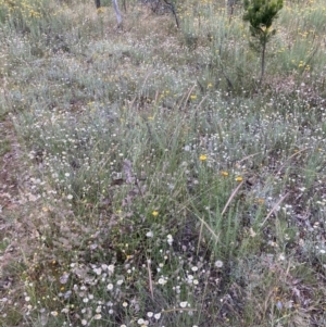
<svg viewBox="0 0 326 327">
<path fill-rule="evenodd" d="M 261 53 L 261 77 L 259 87 L 262 86 L 265 74 L 266 45 L 275 35 L 272 24 L 283 8 L 283 0 L 244 0 L 243 21 L 250 23 L 250 33 L 253 41 L 250 46 Z"/>
</svg>

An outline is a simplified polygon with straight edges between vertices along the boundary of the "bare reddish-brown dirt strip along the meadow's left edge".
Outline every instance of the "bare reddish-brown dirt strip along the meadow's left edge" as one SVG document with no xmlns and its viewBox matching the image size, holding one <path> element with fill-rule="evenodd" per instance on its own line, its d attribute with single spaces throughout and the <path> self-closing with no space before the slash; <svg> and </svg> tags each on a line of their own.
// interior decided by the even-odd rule
<svg viewBox="0 0 326 327">
<path fill-rule="evenodd" d="M 23 174 L 22 151 L 14 133 L 13 124 L 0 122 L 0 316 L 10 315 L 11 323 L 0 319 L 1 326 L 20 326 L 17 310 L 12 304 L 22 297 L 21 278 L 15 276 L 13 264 L 22 261 L 20 244 L 25 232 L 16 224 L 23 212 L 20 205 L 20 179 Z"/>
</svg>

